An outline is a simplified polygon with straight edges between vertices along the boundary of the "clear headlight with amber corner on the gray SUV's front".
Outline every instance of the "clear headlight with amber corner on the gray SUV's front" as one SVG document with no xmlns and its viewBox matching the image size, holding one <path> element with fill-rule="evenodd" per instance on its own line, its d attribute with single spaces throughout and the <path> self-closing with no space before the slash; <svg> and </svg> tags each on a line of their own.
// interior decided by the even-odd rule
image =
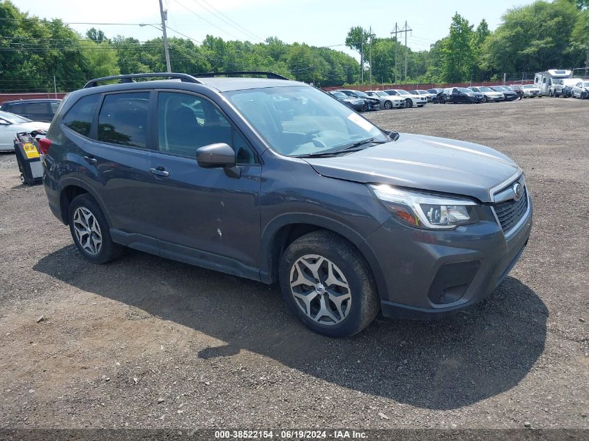
<svg viewBox="0 0 589 441">
<path fill-rule="evenodd" d="M 469 199 L 436 196 L 390 185 L 368 187 L 397 220 L 413 228 L 451 230 L 478 222 L 474 210 L 477 203 Z"/>
</svg>

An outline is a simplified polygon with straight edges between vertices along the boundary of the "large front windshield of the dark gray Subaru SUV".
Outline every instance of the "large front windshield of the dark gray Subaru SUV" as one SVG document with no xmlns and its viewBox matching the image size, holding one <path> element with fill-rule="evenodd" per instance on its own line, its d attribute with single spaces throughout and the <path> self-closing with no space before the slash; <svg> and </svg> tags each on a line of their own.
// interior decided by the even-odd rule
<svg viewBox="0 0 589 441">
<path fill-rule="evenodd" d="M 268 87 L 225 95 L 281 155 L 317 155 L 360 141 L 390 141 L 370 121 L 314 87 Z"/>
</svg>

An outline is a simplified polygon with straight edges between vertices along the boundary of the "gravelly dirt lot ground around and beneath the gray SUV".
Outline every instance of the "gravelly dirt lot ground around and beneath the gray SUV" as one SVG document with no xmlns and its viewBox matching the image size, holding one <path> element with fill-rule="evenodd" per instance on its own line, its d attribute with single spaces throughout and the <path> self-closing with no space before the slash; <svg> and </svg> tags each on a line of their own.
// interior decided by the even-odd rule
<svg viewBox="0 0 589 441">
<path fill-rule="evenodd" d="M 1 154 L 0 428 L 589 429 L 589 102 L 368 117 L 526 171 L 530 245 L 491 297 L 328 339 L 276 286 L 134 251 L 84 261 L 43 187 Z"/>
</svg>

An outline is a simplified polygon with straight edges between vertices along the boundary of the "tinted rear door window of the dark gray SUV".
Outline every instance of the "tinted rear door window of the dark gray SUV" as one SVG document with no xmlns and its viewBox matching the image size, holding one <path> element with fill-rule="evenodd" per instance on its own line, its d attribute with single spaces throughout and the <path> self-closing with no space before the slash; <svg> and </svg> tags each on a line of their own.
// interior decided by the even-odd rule
<svg viewBox="0 0 589 441">
<path fill-rule="evenodd" d="M 106 95 L 98 114 L 98 141 L 121 146 L 147 146 L 149 92 Z"/>
</svg>

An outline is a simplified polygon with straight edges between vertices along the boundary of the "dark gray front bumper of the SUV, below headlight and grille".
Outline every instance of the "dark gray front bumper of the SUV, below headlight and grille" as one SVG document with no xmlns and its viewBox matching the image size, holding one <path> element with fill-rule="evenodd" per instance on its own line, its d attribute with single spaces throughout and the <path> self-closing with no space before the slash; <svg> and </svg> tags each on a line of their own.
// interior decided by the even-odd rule
<svg viewBox="0 0 589 441">
<path fill-rule="evenodd" d="M 411 229 L 389 219 L 365 244 L 383 277 L 383 316 L 433 318 L 487 297 L 526 247 L 532 213 L 529 199 L 526 214 L 506 234 L 490 208 L 479 223 L 453 231 Z"/>
</svg>

